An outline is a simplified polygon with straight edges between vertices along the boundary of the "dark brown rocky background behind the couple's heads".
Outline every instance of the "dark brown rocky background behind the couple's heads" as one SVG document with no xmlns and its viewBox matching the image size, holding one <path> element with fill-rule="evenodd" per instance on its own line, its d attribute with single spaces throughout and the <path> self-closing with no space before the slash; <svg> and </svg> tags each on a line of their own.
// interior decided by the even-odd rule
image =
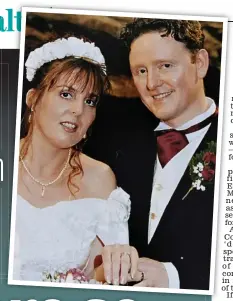
<svg viewBox="0 0 233 301">
<path fill-rule="evenodd" d="M 132 19 L 92 15 L 28 13 L 25 55 L 35 45 L 53 39 L 54 34 L 61 37 L 68 32 L 72 32 L 76 36 L 84 35 L 95 42 L 105 56 L 112 83 L 112 94 L 124 98 L 137 97 L 138 94 L 130 76 L 128 54 L 118 39 L 121 28 Z M 206 36 L 205 48 L 210 55 L 211 69 L 215 74 L 218 74 L 221 61 L 222 23 L 201 23 Z M 215 85 L 218 86 L 217 83 Z"/>
</svg>

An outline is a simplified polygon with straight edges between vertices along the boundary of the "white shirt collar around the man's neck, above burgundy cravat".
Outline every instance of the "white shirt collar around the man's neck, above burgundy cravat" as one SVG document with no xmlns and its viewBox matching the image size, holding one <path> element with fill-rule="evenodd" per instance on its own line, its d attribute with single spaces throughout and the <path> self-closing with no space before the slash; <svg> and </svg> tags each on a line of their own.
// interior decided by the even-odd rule
<svg viewBox="0 0 233 301">
<path fill-rule="evenodd" d="M 190 126 L 193 126 L 206 118 L 210 117 L 214 112 L 216 111 L 216 104 L 213 99 L 206 97 L 208 103 L 210 104 L 208 110 L 206 110 L 204 113 L 201 113 L 194 117 L 193 119 L 187 121 L 186 123 L 182 124 L 176 130 L 185 130 L 189 128 Z M 161 131 L 161 130 L 169 130 L 172 129 L 168 124 L 164 123 L 163 121 L 160 121 L 159 125 L 155 128 L 155 131 Z"/>
</svg>

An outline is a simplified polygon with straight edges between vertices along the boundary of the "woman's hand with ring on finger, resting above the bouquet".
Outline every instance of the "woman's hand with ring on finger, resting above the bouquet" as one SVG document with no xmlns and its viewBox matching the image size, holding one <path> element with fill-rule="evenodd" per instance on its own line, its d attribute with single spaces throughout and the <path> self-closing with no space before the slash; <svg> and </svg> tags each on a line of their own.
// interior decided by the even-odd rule
<svg viewBox="0 0 233 301">
<path fill-rule="evenodd" d="M 140 281 L 138 252 L 134 247 L 129 245 L 105 246 L 102 258 L 107 283 L 119 285 L 131 281 Z"/>
</svg>

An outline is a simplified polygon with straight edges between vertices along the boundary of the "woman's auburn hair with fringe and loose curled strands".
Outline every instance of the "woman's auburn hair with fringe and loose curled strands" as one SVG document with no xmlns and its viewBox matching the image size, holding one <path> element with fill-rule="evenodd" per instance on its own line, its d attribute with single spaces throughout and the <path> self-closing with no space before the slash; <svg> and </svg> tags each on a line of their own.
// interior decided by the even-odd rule
<svg viewBox="0 0 233 301">
<path fill-rule="evenodd" d="M 65 36 L 65 38 L 67 37 L 68 36 Z M 45 42 L 43 44 L 45 44 Z M 25 58 L 27 58 L 27 55 L 25 55 Z M 26 70 L 24 75 L 26 75 Z M 33 97 L 35 97 L 35 99 L 33 99 L 33 107 L 35 108 L 44 93 L 52 89 L 61 76 L 65 76 L 71 85 L 76 81 L 79 81 L 80 92 L 91 84 L 93 91 L 96 91 L 100 98 L 110 89 L 110 82 L 103 66 L 82 58 L 70 56 L 63 59 L 53 60 L 41 66 L 37 69 L 35 76 L 30 83 L 26 78 L 24 78 L 24 83 L 26 84 L 24 84 L 23 89 L 25 89 L 25 86 L 27 87 L 26 91 L 23 91 L 23 95 L 26 95 L 26 92 L 30 89 L 35 89 L 35 93 L 33 94 Z M 24 124 L 24 139 L 21 144 L 20 158 L 23 159 L 28 152 L 33 133 L 34 116 L 33 112 L 31 112 L 31 107 L 26 108 L 22 122 Z M 87 138 L 88 135 L 89 131 L 87 132 Z M 72 187 L 75 188 L 76 192 L 79 191 L 79 187 L 72 180 L 79 174 L 83 175 L 83 168 L 79 155 L 86 139 L 82 139 L 72 147 L 72 154 L 69 161 L 71 172 L 67 181 L 68 188 L 72 195 L 74 195 Z"/>
</svg>

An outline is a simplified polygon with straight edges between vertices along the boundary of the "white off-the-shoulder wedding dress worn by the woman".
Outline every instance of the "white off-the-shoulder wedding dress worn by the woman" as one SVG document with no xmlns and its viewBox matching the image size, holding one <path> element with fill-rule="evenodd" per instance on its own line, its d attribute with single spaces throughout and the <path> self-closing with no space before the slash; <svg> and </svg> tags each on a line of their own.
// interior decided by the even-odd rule
<svg viewBox="0 0 233 301">
<path fill-rule="evenodd" d="M 84 198 L 36 208 L 18 196 L 13 280 L 42 281 L 45 271 L 81 268 L 98 236 L 105 245 L 128 243 L 129 195 Z"/>
</svg>

